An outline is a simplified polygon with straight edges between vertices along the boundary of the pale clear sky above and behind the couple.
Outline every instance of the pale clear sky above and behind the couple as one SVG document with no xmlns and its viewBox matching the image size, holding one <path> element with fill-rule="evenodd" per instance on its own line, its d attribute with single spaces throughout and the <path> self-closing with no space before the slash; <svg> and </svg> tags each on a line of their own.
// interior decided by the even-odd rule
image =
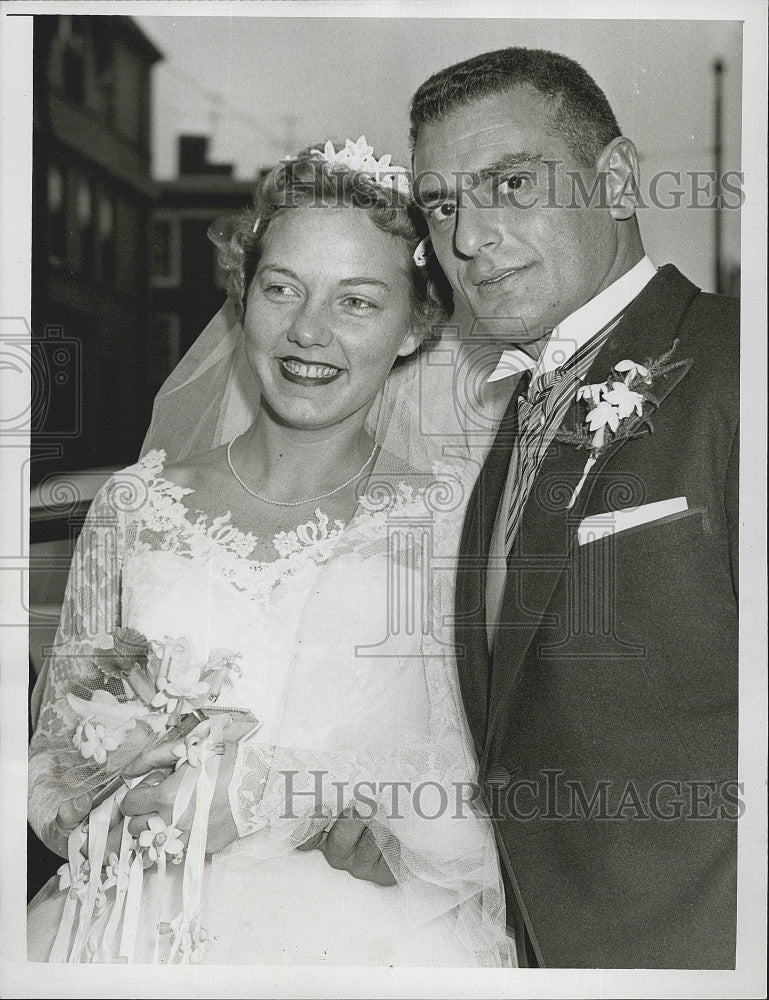
<svg viewBox="0 0 769 1000">
<path fill-rule="evenodd" d="M 252 8 L 253 9 L 253 8 Z M 712 66 L 724 61 L 724 168 L 740 168 L 741 25 L 729 21 L 403 17 L 137 17 L 164 53 L 153 78 L 154 170 L 172 177 L 176 137 L 211 135 L 210 158 L 249 178 L 289 152 L 365 134 L 408 165 L 410 97 L 431 73 L 507 45 L 582 63 L 606 92 L 642 175 L 713 166 Z M 739 260 L 739 212 L 724 218 Z M 677 263 L 706 289 L 713 213 L 641 213 L 655 263 Z"/>
</svg>

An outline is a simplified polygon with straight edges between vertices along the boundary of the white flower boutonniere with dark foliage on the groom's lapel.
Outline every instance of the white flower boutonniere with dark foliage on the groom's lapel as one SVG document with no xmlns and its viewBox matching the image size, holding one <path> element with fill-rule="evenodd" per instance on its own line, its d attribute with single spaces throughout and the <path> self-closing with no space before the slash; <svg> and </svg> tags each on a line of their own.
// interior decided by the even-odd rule
<svg viewBox="0 0 769 1000">
<path fill-rule="evenodd" d="M 577 387 L 577 403 L 586 411 L 584 419 L 576 430 L 559 430 L 555 439 L 590 454 L 567 509 L 574 506 L 590 470 L 610 445 L 633 436 L 642 423 L 653 430 L 649 416 L 660 403 L 657 383 L 689 364 L 688 360 L 672 360 L 677 345 L 674 340 L 669 351 L 645 365 L 625 358 L 614 365 L 604 382 Z"/>
</svg>

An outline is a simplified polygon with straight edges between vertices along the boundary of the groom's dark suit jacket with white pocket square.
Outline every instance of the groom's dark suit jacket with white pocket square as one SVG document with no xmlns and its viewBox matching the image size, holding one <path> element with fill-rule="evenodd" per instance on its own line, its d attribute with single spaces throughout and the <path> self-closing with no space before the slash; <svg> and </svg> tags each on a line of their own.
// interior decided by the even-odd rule
<svg viewBox="0 0 769 1000">
<path fill-rule="evenodd" d="M 470 501 L 460 682 L 509 922 L 543 966 L 734 966 L 738 332 L 737 302 L 671 265 L 631 303 L 586 381 L 676 339 L 685 364 L 655 384 L 658 408 L 599 458 L 572 510 L 587 453 L 549 448 L 492 655 L 485 563 L 512 407 Z M 575 404 L 564 426 L 578 419 Z M 677 497 L 687 511 L 577 544 L 586 516 Z"/>
</svg>

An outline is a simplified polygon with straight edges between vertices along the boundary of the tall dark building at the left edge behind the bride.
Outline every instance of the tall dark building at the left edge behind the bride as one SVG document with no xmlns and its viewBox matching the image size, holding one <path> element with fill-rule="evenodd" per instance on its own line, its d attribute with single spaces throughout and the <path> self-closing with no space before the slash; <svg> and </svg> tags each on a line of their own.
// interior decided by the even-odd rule
<svg viewBox="0 0 769 1000">
<path fill-rule="evenodd" d="M 146 427 L 160 58 L 130 17 L 35 16 L 33 483 L 134 461 Z"/>
</svg>

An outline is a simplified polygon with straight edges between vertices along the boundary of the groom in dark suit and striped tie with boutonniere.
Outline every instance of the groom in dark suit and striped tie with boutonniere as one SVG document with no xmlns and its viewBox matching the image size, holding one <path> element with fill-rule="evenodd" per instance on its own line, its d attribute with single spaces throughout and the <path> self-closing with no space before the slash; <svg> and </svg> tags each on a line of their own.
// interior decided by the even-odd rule
<svg viewBox="0 0 769 1000">
<path fill-rule="evenodd" d="M 411 127 L 437 259 L 516 381 L 456 643 L 519 962 L 732 968 L 737 303 L 645 255 L 635 148 L 571 60 L 449 67 Z M 323 850 L 387 881 L 354 821 Z"/>
</svg>

